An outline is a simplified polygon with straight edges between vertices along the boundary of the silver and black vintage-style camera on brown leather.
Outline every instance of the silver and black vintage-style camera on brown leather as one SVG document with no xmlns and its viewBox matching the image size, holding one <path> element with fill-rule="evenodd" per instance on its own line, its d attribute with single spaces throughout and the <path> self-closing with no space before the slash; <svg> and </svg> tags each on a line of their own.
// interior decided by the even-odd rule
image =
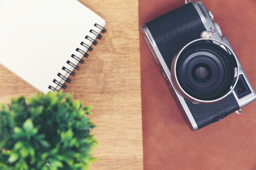
<svg viewBox="0 0 256 170">
<path fill-rule="evenodd" d="M 202 2 L 186 2 L 141 31 L 191 130 L 240 114 L 256 99 L 229 41 Z"/>
</svg>

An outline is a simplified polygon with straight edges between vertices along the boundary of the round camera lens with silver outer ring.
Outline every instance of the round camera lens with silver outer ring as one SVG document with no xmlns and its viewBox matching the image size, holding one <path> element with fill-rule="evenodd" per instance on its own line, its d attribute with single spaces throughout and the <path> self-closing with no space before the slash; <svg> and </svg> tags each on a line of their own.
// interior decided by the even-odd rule
<svg viewBox="0 0 256 170">
<path fill-rule="evenodd" d="M 174 57 L 171 78 L 184 98 L 209 104 L 223 99 L 234 89 L 238 62 L 229 48 L 220 45 L 223 44 L 210 39 L 196 40 Z"/>
</svg>

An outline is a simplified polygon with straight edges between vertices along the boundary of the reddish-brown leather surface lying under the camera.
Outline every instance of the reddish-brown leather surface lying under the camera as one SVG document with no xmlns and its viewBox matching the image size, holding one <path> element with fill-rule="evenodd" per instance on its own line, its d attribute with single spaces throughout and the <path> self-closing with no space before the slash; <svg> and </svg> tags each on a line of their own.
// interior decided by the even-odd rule
<svg viewBox="0 0 256 170">
<path fill-rule="evenodd" d="M 256 88 L 256 1 L 202 0 Z M 139 24 L 184 0 L 139 0 Z M 196 132 L 189 129 L 140 34 L 144 170 L 256 170 L 256 102 Z M 217 110 L 216 110 L 217 111 Z"/>
</svg>

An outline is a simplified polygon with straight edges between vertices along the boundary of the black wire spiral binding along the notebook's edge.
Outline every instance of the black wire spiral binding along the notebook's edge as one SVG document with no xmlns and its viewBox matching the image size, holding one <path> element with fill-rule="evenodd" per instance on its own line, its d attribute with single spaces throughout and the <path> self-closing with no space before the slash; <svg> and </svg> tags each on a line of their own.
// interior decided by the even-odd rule
<svg viewBox="0 0 256 170">
<path fill-rule="evenodd" d="M 97 27 L 97 28 L 99 28 L 99 29 L 101 29 L 101 33 L 106 33 L 106 31 L 107 31 L 104 27 L 100 26 L 100 25 L 97 24 L 97 23 L 94 24 L 94 26 Z M 90 33 L 96 35 L 96 38 L 97 38 L 98 40 L 101 40 L 102 35 L 101 35 L 100 33 L 97 33 L 97 31 L 94 31 L 93 29 L 91 29 L 91 30 L 90 30 Z M 98 42 L 97 42 L 96 40 L 94 40 L 93 38 L 91 38 L 91 37 L 88 36 L 88 35 L 85 36 L 85 39 L 87 39 L 87 40 L 89 40 L 90 42 L 92 42 L 93 45 L 97 45 L 97 44 L 98 44 Z M 87 49 L 87 51 L 92 51 L 92 50 L 93 50 L 93 48 L 92 48 L 91 46 L 89 46 L 88 44 L 85 44 L 84 42 L 81 42 L 80 44 L 81 44 L 82 46 L 84 46 L 84 47 Z M 79 52 L 79 53 L 81 53 L 81 54 L 83 55 L 83 57 L 86 57 L 86 58 L 89 57 L 88 53 L 86 53 L 85 51 L 83 51 L 83 50 L 81 50 L 81 49 L 79 49 L 79 48 L 76 48 L 76 51 Z M 83 63 L 85 62 L 84 60 L 80 59 L 79 57 L 77 57 L 77 56 L 74 55 L 74 54 L 72 54 L 70 57 L 72 57 L 73 59 L 75 59 L 77 62 L 79 62 L 79 63 L 81 63 L 81 64 L 83 64 Z M 73 68 L 76 69 L 76 70 L 79 70 L 79 69 L 80 69 L 79 66 L 77 66 L 76 64 L 70 62 L 70 60 L 67 60 L 67 64 L 70 65 L 71 67 L 73 67 Z M 66 73 L 68 73 L 69 75 L 72 75 L 72 76 L 75 76 L 75 75 L 76 75 L 76 73 L 74 73 L 74 72 L 71 71 L 70 69 L 66 68 L 65 66 L 62 67 L 62 70 L 64 70 L 64 71 L 65 71 Z M 60 88 L 64 88 L 64 89 L 67 88 L 67 86 L 65 85 L 65 82 L 67 82 L 67 83 L 70 83 L 70 82 L 71 82 L 71 79 L 68 78 L 68 76 L 65 77 L 65 76 L 62 75 L 61 73 L 58 73 L 57 76 L 61 78 L 61 81 L 59 82 L 59 81 L 57 81 L 56 79 L 54 79 L 52 82 L 54 82 L 54 83 L 56 84 L 56 87 L 55 87 L 55 88 L 54 88 L 53 86 L 49 86 L 49 87 L 48 87 L 48 88 L 51 89 L 52 91 L 56 91 L 56 92 L 58 92 Z M 61 82 L 63 82 L 63 81 L 64 81 L 64 83 L 61 83 Z"/>
</svg>

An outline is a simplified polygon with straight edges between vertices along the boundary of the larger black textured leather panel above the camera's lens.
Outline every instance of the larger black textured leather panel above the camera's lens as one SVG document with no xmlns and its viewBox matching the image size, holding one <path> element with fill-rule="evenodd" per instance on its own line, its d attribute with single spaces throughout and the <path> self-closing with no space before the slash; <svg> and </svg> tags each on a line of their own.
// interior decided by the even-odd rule
<svg viewBox="0 0 256 170">
<path fill-rule="evenodd" d="M 169 70 L 173 56 L 205 31 L 193 4 L 188 3 L 146 23 Z"/>
</svg>

